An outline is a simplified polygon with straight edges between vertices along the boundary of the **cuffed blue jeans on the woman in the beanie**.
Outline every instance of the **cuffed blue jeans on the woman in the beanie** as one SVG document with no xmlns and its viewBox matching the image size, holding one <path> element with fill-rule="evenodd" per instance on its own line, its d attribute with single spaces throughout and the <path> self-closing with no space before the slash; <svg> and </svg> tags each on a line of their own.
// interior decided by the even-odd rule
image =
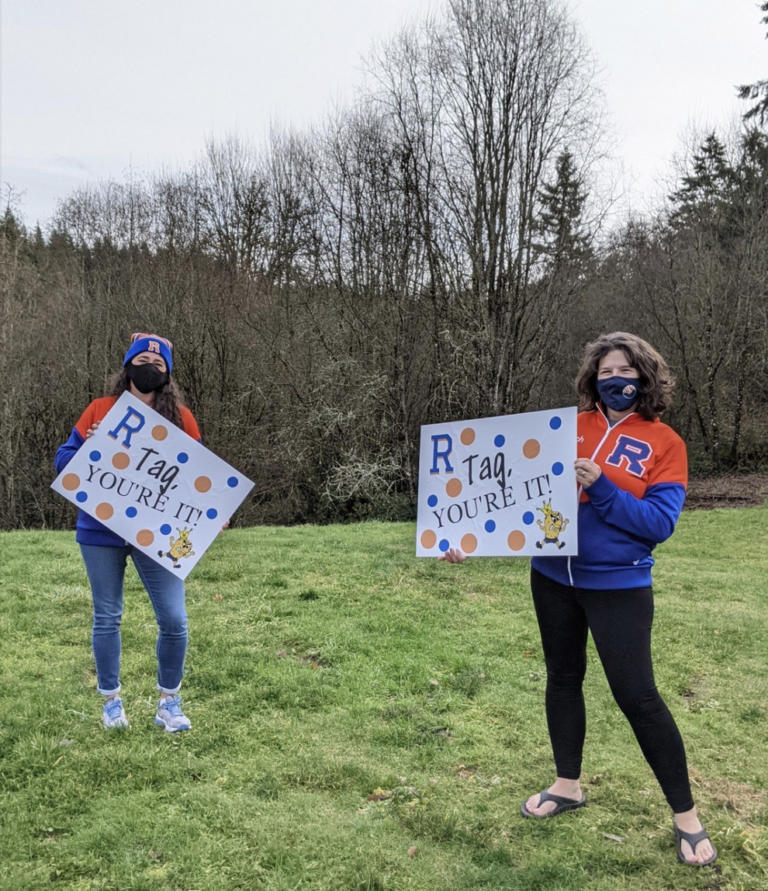
<svg viewBox="0 0 768 891">
<path fill-rule="evenodd" d="M 187 611 L 184 581 L 130 545 L 120 548 L 80 545 L 93 596 L 91 643 L 98 691 L 106 696 L 120 690 L 120 621 L 123 617 L 123 577 L 130 555 L 147 589 L 159 633 L 157 689 L 177 693 L 187 652 Z"/>
</svg>

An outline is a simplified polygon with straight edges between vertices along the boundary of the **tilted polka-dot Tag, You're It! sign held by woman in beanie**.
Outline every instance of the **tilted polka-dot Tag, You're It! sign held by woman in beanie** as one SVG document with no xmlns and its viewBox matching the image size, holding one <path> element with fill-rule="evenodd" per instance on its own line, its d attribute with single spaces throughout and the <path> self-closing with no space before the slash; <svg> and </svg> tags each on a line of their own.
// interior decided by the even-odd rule
<svg viewBox="0 0 768 891">
<path fill-rule="evenodd" d="M 253 483 L 126 392 L 51 488 L 186 578 Z"/>
</svg>

